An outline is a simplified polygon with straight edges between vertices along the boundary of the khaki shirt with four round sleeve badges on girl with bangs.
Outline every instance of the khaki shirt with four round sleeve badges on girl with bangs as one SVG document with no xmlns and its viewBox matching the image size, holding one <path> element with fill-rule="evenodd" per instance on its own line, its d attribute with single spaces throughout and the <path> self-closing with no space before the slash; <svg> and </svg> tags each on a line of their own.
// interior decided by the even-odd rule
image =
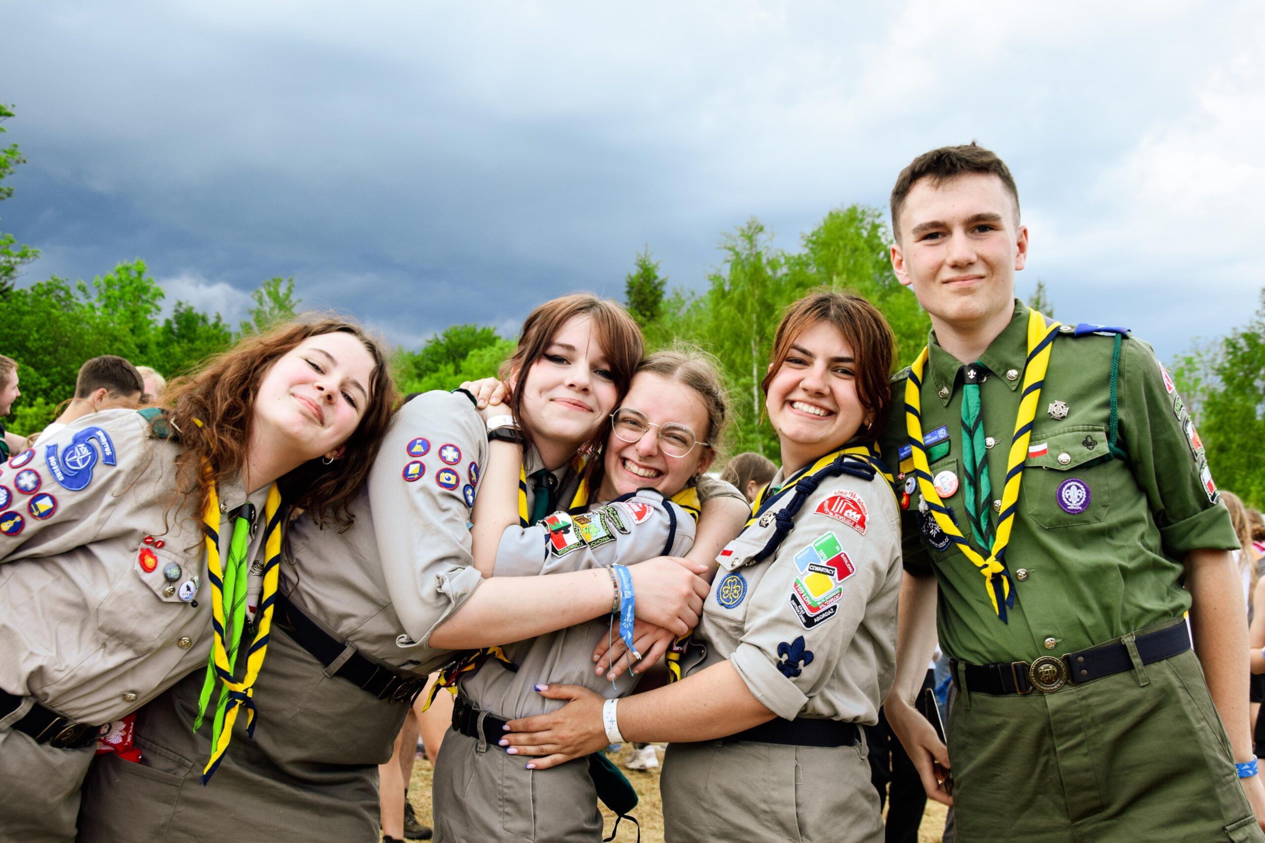
<svg viewBox="0 0 1265 843">
<path fill-rule="evenodd" d="M 295 521 L 281 591 L 330 634 L 391 667 L 429 674 L 452 657 L 428 642 L 482 581 L 471 506 L 487 430 L 463 394 L 401 407 L 345 531 Z M 267 670 L 267 666 L 264 667 Z"/>
</svg>

